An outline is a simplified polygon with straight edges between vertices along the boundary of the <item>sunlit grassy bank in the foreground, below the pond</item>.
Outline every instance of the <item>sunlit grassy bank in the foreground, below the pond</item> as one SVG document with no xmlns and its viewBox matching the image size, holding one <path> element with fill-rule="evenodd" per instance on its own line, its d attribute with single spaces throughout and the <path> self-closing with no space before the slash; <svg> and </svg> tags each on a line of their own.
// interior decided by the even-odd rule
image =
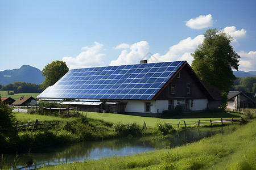
<svg viewBox="0 0 256 170">
<path fill-rule="evenodd" d="M 224 133 L 173 149 L 40 169 L 256 169 L 256 121 L 226 128 Z"/>
</svg>

